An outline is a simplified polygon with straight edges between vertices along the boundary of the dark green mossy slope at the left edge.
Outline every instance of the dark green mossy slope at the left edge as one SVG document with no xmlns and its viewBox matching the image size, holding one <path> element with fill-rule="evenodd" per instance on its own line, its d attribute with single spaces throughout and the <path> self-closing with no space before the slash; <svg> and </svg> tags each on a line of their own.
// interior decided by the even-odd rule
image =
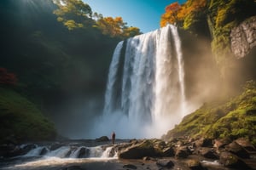
<svg viewBox="0 0 256 170">
<path fill-rule="evenodd" d="M 45 118 L 36 105 L 8 88 L 0 88 L 1 141 L 17 142 L 54 139 L 52 122 Z"/>
</svg>

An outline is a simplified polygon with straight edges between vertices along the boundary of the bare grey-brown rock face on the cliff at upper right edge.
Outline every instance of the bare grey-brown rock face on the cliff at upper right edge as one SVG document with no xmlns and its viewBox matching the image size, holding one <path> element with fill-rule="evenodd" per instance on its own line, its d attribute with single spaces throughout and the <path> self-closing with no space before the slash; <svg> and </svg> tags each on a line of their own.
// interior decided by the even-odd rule
<svg viewBox="0 0 256 170">
<path fill-rule="evenodd" d="M 243 21 L 230 33 L 230 48 L 237 59 L 245 57 L 256 46 L 256 16 Z"/>
</svg>

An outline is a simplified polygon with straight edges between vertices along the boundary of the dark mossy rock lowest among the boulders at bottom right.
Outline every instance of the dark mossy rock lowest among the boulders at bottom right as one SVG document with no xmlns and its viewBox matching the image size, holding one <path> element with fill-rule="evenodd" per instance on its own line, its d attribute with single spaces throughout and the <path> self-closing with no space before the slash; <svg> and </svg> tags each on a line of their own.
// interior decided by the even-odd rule
<svg viewBox="0 0 256 170">
<path fill-rule="evenodd" d="M 238 156 L 224 151 L 220 153 L 219 162 L 224 165 L 224 167 L 236 168 L 240 169 L 250 169 L 247 164 L 242 161 Z"/>
</svg>

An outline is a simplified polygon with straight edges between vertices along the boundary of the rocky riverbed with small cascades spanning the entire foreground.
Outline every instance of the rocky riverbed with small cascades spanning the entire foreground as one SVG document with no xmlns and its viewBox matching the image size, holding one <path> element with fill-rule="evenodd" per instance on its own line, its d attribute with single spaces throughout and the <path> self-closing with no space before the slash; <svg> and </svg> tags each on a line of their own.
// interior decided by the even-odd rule
<svg viewBox="0 0 256 170">
<path fill-rule="evenodd" d="M 0 169 L 256 169 L 256 150 L 247 139 L 102 139 L 5 144 Z"/>
</svg>

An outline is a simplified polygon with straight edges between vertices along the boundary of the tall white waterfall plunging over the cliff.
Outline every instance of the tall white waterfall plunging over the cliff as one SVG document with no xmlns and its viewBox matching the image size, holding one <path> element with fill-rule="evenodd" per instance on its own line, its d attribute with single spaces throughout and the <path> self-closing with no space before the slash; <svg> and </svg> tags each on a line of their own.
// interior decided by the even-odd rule
<svg viewBox="0 0 256 170">
<path fill-rule="evenodd" d="M 110 127 L 126 138 L 166 133 L 186 114 L 183 66 L 176 26 L 119 42 L 108 73 L 103 122 L 113 123 Z"/>
</svg>

